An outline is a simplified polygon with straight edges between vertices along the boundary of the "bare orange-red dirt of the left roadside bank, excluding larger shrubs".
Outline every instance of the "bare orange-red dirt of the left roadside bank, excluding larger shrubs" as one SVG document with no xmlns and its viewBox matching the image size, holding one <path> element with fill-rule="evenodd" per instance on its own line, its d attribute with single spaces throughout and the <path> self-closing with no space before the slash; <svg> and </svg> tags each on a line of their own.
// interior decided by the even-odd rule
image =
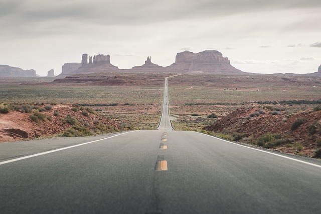
<svg viewBox="0 0 321 214">
<path fill-rule="evenodd" d="M 43 108 L 45 105 L 38 106 Z M 0 142 L 10 142 L 22 139 L 32 139 L 38 137 L 47 137 L 55 134 L 62 134 L 73 125 L 66 122 L 64 118 L 72 117 L 76 119 L 78 126 L 86 126 L 94 129 L 97 124 L 105 126 L 106 131 L 114 131 L 117 124 L 110 121 L 97 113 L 90 113 L 85 109 L 77 108 L 77 112 L 72 109 L 76 107 L 70 105 L 53 105 L 51 110 L 41 112 L 46 114 L 49 119 L 46 122 L 39 121 L 36 123 L 30 116 L 34 113 L 23 113 L 13 111 L 8 114 L 0 114 Z M 58 112 L 55 116 L 54 112 Z M 85 112 L 85 113 L 84 113 Z"/>
</svg>

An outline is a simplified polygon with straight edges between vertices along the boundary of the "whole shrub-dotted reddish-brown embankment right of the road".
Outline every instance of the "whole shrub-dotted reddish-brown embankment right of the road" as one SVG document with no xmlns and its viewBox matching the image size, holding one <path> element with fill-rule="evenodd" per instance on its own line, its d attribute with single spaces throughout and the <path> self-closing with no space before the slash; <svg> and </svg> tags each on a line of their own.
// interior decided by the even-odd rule
<svg viewBox="0 0 321 214">
<path fill-rule="evenodd" d="M 235 141 L 312 157 L 321 143 L 320 109 L 321 106 L 306 111 L 272 106 L 241 108 L 204 129 L 229 133 Z"/>
</svg>

